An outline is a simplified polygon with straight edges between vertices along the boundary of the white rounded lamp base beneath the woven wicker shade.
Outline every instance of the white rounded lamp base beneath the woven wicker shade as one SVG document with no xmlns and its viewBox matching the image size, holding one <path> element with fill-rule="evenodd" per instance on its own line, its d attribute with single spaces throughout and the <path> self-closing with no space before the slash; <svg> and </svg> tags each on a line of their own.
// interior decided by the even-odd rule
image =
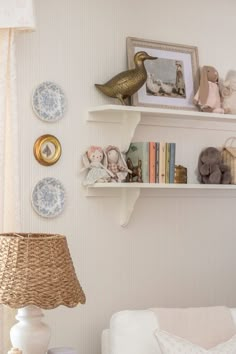
<svg viewBox="0 0 236 354">
<path fill-rule="evenodd" d="M 42 310 L 34 305 L 18 310 L 16 323 L 10 331 L 12 346 L 24 354 L 45 354 L 51 337 L 48 325 L 41 321 Z"/>
</svg>

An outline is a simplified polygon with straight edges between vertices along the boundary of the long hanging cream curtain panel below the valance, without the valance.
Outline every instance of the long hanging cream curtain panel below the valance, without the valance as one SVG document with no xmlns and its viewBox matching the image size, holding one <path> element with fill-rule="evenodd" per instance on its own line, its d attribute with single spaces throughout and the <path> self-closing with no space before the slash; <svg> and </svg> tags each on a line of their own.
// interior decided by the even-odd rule
<svg viewBox="0 0 236 354">
<path fill-rule="evenodd" d="M 0 29 L 0 232 L 20 230 L 14 30 Z M 0 353 L 7 353 L 13 311 L 0 307 Z"/>
</svg>

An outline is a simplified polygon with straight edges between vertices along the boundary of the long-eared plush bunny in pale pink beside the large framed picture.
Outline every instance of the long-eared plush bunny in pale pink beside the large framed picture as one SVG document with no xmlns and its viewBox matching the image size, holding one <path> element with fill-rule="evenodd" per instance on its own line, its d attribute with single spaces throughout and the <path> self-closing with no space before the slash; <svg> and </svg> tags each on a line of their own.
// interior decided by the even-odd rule
<svg viewBox="0 0 236 354">
<path fill-rule="evenodd" d="M 194 97 L 194 103 L 203 112 L 224 113 L 219 90 L 219 75 L 212 66 L 203 66 L 200 87 Z"/>
</svg>

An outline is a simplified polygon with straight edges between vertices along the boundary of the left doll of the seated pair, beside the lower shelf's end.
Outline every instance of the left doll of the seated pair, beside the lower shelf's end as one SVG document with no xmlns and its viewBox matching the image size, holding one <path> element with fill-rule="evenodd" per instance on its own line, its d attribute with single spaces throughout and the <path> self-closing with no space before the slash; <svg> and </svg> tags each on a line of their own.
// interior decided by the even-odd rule
<svg viewBox="0 0 236 354">
<path fill-rule="evenodd" d="M 106 168 L 107 161 L 100 146 L 90 146 L 88 151 L 82 157 L 84 170 L 88 170 L 84 180 L 84 185 L 92 185 L 95 182 L 111 182 L 114 174 Z"/>
</svg>

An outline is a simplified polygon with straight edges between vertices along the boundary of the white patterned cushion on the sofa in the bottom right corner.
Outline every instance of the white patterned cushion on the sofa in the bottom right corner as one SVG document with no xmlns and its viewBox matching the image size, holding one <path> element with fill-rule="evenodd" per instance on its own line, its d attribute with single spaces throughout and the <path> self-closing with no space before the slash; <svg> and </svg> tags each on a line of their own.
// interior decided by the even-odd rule
<svg viewBox="0 0 236 354">
<path fill-rule="evenodd" d="M 206 350 L 184 338 L 177 337 L 165 331 L 155 331 L 162 354 L 235 354 L 236 335 L 216 347 Z"/>
</svg>

